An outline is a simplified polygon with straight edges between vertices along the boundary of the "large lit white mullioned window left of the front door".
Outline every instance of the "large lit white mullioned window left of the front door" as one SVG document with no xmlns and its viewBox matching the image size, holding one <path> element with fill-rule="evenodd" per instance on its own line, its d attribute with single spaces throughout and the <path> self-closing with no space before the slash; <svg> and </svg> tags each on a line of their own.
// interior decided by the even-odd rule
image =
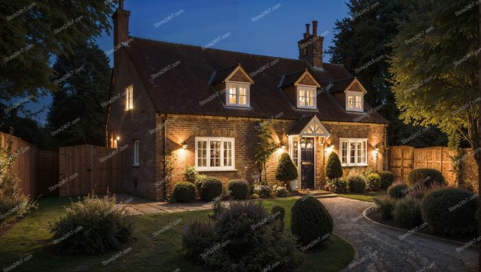
<svg viewBox="0 0 481 272">
<path fill-rule="evenodd" d="M 198 171 L 235 170 L 234 138 L 196 137 L 195 168 Z"/>
</svg>

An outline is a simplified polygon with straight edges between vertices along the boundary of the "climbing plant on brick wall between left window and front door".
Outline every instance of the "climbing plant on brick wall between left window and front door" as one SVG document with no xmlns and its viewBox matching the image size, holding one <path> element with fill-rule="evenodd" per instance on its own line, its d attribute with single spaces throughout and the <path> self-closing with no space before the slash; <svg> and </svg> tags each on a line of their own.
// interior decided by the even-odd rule
<svg viewBox="0 0 481 272">
<path fill-rule="evenodd" d="M 267 167 L 266 163 L 269 157 L 276 152 L 277 146 L 272 139 L 271 122 L 258 122 L 255 126 L 257 130 L 258 143 L 254 146 L 254 158 L 259 167 L 259 180 L 262 183 L 262 170 L 265 173 L 265 181 L 267 184 Z"/>
</svg>

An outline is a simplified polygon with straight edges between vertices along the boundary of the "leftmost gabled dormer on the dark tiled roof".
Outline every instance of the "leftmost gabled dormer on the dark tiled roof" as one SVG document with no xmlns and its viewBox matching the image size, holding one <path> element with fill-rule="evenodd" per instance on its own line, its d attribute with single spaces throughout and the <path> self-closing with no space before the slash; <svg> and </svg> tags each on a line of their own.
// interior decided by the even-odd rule
<svg viewBox="0 0 481 272">
<path fill-rule="evenodd" d="M 249 108 L 254 80 L 240 65 L 214 71 L 210 84 L 219 92 L 225 106 Z"/>
</svg>

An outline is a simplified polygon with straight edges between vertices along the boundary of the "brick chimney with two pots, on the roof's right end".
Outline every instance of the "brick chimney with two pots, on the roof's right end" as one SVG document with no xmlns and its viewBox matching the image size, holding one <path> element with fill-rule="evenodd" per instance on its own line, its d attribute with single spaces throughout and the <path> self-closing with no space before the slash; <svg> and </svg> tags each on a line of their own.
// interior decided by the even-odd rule
<svg viewBox="0 0 481 272">
<path fill-rule="evenodd" d="M 322 43 L 323 36 L 317 36 L 317 21 L 313 21 L 313 33 L 309 33 L 309 24 L 306 24 L 304 38 L 298 41 L 299 59 L 306 60 L 315 68 L 322 68 Z"/>
</svg>

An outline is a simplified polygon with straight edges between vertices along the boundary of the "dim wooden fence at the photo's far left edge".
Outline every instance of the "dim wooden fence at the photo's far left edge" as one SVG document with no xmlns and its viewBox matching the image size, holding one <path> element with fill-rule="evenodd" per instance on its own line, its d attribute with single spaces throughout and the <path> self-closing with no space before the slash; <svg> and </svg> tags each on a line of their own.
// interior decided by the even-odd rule
<svg viewBox="0 0 481 272">
<path fill-rule="evenodd" d="M 19 137 L 0 133 L 0 147 L 8 146 L 12 139 L 12 172 L 21 181 L 20 188 L 24 194 L 36 196 L 55 196 L 58 192 L 48 190 L 58 182 L 58 152 L 39 150 Z"/>
</svg>

